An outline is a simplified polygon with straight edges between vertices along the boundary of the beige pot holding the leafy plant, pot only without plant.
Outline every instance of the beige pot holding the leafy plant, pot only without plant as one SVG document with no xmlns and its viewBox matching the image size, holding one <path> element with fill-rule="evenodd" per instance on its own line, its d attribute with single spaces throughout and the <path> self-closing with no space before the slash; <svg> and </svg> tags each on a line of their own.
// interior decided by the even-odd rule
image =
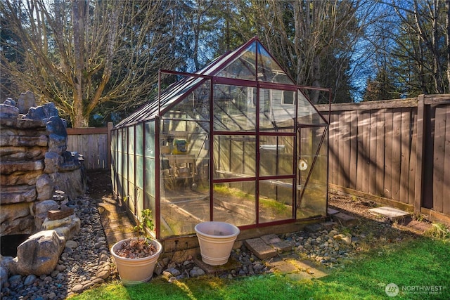
<svg viewBox="0 0 450 300">
<path fill-rule="evenodd" d="M 141 259 L 127 259 L 118 256 L 115 253 L 117 249 L 120 249 L 122 242 L 134 240 L 136 238 L 137 237 L 131 237 L 129 239 L 120 240 L 111 247 L 111 254 L 114 257 L 120 280 L 122 280 L 124 285 L 137 285 L 138 283 L 150 280 L 153 275 L 153 270 L 155 270 L 156 262 L 162 252 L 162 244 L 160 242 L 157 240 L 149 240 L 149 242 L 155 245 L 157 249 L 157 252 L 153 255 Z"/>
</svg>

